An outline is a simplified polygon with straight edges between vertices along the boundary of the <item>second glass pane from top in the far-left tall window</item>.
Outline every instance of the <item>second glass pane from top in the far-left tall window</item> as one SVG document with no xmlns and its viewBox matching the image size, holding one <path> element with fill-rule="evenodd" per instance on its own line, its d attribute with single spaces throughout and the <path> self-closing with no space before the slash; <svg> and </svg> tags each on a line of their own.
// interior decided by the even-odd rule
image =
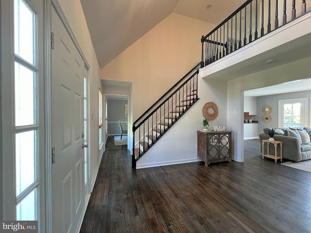
<svg viewBox="0 0 311 233">
<path fill-rule="evenodd" d="M 15 63 L 15 124 L 35 124 L 35 73 Z"/>
</svg>

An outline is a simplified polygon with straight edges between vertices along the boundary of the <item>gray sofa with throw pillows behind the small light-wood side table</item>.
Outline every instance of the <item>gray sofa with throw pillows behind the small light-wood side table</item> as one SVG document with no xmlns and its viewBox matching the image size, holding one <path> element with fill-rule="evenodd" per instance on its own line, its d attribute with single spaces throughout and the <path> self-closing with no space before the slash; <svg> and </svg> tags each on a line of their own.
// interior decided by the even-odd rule
<svg viewBox="0 0 311 233">
<path fill-rule="evenodd" d="M 299 131 L 304 131 L 307 132 L 309 135 L 309 140 L 311 138 L 311 130 L 310 128 L 299 128 Z M 260 139 L 260 152 L 262 153 L 262 140 L 267 140 L 269 139 L 269 135 L 267 134 L 267 131 L 269 129 L 264 129 L 263 131 L 265 133 L 260 133 L 259 134 L 259 139 Z M 294 162 L 298 161 L 303 161 L 303 160 L 308 160 L 311 159 L 311 143 L 310 141 L 306 143 L 306 141 L 302 141 L 301 137 L 299 138 L 299 135 L 297 136 L 297 129 L 293 128 L 285 128 L 285 129 L 280 129 L 278 128 L 276 130 L 276 133 L 274 135 L 274 139 L 276 141 L 281 141 L 283 150 L 282 150 L 282 157 L 283 159 L 288 159 Z M 295 134 L 294 134 L 294 133 Z M 299 132 L 298 132 L 299 134 Z M 264 151 L 265 153 L 267 152 L 267 148 L 265 148 Z M 279 148 L 277 148 L 279 150 Z M 277 151 L 279 153 L 279 151 Z M 275 154 L 275 148 L 273 144 L 270 144 L 269 147 L 269 153 L 270 154 Z"/>
</svg>

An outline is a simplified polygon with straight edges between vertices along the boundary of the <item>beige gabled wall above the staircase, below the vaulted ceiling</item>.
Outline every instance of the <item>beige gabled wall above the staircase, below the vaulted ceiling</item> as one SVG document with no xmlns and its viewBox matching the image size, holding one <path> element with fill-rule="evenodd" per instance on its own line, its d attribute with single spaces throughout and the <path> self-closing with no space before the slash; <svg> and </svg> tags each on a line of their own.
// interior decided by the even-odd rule
<svg viewBox="0 0 311 233">
<path fill-rule="evenodd" d="M 173 13 L 103 67 L 101 79 L 133 83 L 135 121 L 200 62 L 200 38 L 214 27 Z"/>
</svg>

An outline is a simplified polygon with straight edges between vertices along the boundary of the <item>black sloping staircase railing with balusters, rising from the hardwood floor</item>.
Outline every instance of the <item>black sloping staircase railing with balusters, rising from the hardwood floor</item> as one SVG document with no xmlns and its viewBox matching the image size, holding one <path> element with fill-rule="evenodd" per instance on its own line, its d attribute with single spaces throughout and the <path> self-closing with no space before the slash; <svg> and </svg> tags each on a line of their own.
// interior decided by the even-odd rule
<svg viewBox="0 0 311 233">
<path fill-rule="evenodd" d="M 133 123 L 132 168 L 136 162 L 198 100 L 198 68 L 193 67 Z"/>
</svg>

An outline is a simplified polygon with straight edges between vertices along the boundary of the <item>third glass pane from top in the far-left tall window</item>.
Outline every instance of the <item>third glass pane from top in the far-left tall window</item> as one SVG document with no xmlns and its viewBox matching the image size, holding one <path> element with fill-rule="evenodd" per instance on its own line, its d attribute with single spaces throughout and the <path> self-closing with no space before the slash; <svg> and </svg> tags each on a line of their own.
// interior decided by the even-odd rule
<svg viewBox="0 0 311 233">
<path fill-rule="evenodd" d="M 35 131 L 16 134 L 16 195 L 35 183 Z"/>
</svg>

